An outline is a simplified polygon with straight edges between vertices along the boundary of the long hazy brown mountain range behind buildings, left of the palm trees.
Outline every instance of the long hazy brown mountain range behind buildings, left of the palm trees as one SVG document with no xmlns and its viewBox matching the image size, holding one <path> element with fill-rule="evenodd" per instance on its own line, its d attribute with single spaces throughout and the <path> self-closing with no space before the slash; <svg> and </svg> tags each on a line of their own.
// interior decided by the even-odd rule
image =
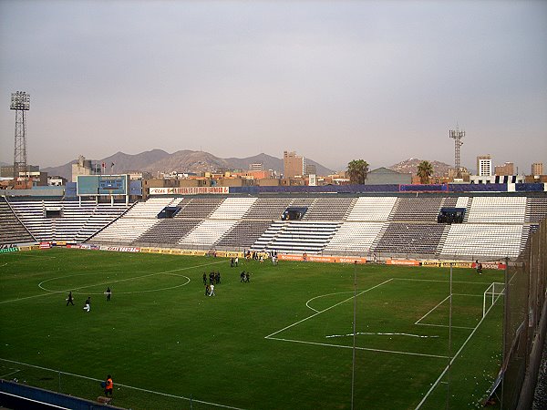
<svg viewBox="0 0 547 410">
<path fill-rule="evenodd" d="M 114 163 L 114 172 L 123 173 L 128 171 L 149 171 L 152 175 L 158 172 L 205 172 L 205 171 L 223 171 L 233 169 L 249 169 L 249 165 L 261 162 L 263 169 L 273 169 L 279 173 L 283 172 L 283 159 L 278 159 L 267 154 L 259 154 L 248 158 L 227 158 L 222 159 L 215 157 L 209 152 L 191 151 L 188 149 L 173 152 L 169 154 L 161 149 L 152 149 L 151 151 L 141 152 L 139 154 L 130 155 L 123 152 L 118 152 L 105 159 L 94 159 L 98 163 L 104 162 L 107 166 L 107 171 L 110 171 L 110 165 Z M 331 169 L 327 169 L 321 164 L 318 164 L 312 159 L 306 161 L 314 164 L 318 175 L 328 175 L 332 173 Z M 43 169 L 49 175 L 60 175 L 66 179 L 72 177 L 72 164 L 70 161 L 65 165 L 58 167 L 49 167 Z"/>
</svg>

